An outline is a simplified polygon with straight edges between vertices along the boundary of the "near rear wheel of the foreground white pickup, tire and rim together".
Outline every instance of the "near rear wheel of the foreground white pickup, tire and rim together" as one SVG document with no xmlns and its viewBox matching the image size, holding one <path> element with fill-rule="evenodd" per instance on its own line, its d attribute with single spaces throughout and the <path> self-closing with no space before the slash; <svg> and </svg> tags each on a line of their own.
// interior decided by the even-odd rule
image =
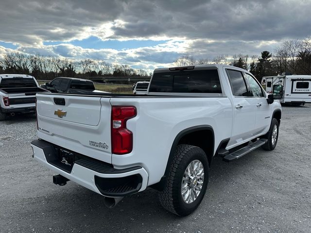
<svg viewBox="0 0 311 233">
<path fill-rule="evenodd" d="M 208 161 L 205 152 L 195 146 L 178 145 L 159 200 L 168 211 L 191 214 L 204 198 L 208 183 Z"/>
</svg>

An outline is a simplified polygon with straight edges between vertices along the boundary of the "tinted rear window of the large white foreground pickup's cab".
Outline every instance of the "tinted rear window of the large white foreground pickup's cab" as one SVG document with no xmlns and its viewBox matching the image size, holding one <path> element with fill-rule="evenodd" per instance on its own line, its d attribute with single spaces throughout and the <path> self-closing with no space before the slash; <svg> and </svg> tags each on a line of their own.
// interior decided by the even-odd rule
<svg viewBox="0 0 311 233">
<path fill-rule="evenodd" d="M 155 73 L 149 92 L 222 93 L 217 69 Z"/>
</svg>

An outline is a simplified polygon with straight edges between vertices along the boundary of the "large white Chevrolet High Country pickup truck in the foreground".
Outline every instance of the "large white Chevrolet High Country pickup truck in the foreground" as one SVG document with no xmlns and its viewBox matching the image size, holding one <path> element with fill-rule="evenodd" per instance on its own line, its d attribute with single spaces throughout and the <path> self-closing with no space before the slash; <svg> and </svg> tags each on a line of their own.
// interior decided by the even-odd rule
<svg viewBox="0 0 311 233">
<path fill-rule="evenodd" d="M 59 174 L 53 183 L 79 183 L 108 207 L 151 186 L 186 216 L 204 198 L 214 156 L 274 150 L 281 95 L 225 65 L 155 69 L 145 96 L 40 93 L 33 157 Z"/>
</svg>

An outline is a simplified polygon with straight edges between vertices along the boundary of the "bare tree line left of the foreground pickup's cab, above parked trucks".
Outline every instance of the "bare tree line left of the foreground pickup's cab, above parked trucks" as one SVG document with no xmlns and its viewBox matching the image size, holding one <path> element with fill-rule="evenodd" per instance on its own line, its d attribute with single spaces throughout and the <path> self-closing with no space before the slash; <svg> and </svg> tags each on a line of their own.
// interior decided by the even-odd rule
<svg viewBox="0 0 311 233">
<path fill-rule="evenodd" d="M 128 65 L 111 64 L 93 59 L 75 61 L 20 52 L 7 53 L 0 59 L 0 73 L 28 74 L 38 80 L 52 80 L 59 76 L 77 78 L 148 76 L 146 70 L 134 69 Z"/>
</svg>

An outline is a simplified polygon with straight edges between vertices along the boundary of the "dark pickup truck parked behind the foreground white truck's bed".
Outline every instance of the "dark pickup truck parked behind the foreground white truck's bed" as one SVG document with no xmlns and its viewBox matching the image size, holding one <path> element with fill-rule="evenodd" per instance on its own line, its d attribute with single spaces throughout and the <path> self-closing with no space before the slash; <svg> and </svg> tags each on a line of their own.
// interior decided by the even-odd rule
<svg viewBox="0 0 311 233">
<path fill-rule="evenodd" d="M 56 93 L 106 93 L 104 91 L 95 90 L 94 83 L 90 80 L 69 77 L 57 77 L 50 83 L 41 84 L 40 87 Z"/>
</svg>

